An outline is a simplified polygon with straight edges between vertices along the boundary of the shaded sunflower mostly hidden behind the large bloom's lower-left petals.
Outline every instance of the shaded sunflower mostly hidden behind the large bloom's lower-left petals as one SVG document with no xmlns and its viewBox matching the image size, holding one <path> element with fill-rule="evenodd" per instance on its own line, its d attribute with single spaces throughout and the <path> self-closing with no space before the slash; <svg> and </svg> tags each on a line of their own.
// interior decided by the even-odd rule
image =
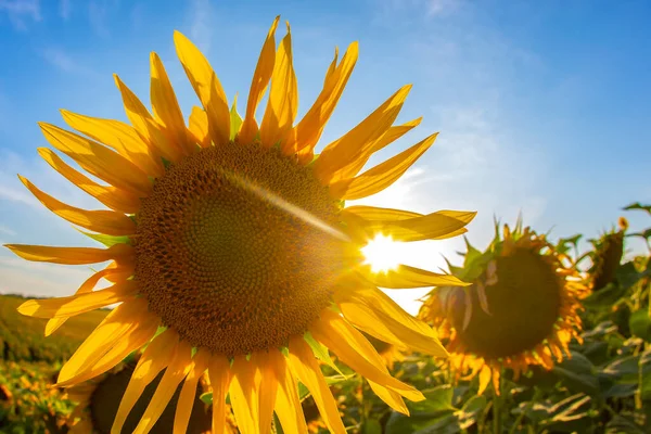
<svg viewBox="0 0 651 434">
<path fill-rule="evenodd" d="M 111 433 L 111 426 L 117 412 L 119 398 L 123 396 L 129 384 L 129 379 L 136 368 L 136 360 L 118 363 L 108 372 L 66 390 L 67 398 L 76 403 L 75 409 L 68 417 L 71 434 Z M 140 399 L 131 410 L 125 423 L 124 429 L 128 432 L 131 432 L 138 424 L 140 417 L 142 417 L 142 413 L 146 408 L 148 401 L 152 398 L 163 375 L 164 373 L 159 373 L 143 391 L 143 394 L 140 396 Z M 210 417 L 204 407 L 205 405 L 200 400 L 202 390 L 202 385 L 197 384 L 196 393 L 194 395 L 194 407 L 192 408 L 192 413 L 186 431 L 189 434 L 207 433 L 210 430 Z M 174 409 L 180 392 L 181 390 L 178 387 L 161 418 L 156 424 L 152 426 L 152 433 L 164 434 L 173 432 L 171 421 L 174 420 Z M 229 431 L 227 430 L 227 432 Z M 230 432 L 234 433 L 237 431 Z"/>
</svg>

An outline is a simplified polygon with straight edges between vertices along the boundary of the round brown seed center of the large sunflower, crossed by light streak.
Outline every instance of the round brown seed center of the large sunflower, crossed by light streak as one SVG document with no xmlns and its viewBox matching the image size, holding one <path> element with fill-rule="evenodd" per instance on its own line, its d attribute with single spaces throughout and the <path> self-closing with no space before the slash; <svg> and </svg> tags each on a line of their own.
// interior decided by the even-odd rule
<svg viewBox="0 0 651 434">
<path fill-rule="evenodd" d="M 339 204 L 278 150 L 202 149 L 171 166 L 138 215 L 136 279 L 196 347 L 285 345 L 330 303 L 345 268 Z"/>
</svg>

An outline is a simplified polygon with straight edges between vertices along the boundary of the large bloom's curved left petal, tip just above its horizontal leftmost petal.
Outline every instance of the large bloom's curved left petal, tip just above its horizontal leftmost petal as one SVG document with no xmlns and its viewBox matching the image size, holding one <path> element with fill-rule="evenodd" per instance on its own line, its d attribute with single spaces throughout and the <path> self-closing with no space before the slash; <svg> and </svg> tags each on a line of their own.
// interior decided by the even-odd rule
<svg viewBox="0 0 651 434">
<path fill-rule="evenodd" d="M 114 210 L 87 210 L 64 204 L 37 189 L 29 180 L 18 175 L 21 181 L 48 209 L 59 217 L 94 232 L 108 235 L 130 235 L 136 233 L 136 224 L 124 214 Z"/>
</svg>

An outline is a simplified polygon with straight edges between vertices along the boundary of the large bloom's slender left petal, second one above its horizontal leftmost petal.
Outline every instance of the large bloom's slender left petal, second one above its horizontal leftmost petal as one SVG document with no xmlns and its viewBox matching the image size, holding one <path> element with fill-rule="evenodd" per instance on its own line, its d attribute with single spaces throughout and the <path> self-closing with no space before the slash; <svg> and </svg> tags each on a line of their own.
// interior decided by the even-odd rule
<svg viewBox="0 0 651 434">
<path fill-rule="evenodd" d="M 91 181 L 88 177 L 64 163 L 49 148 L 38 148 L 38 153 L 54 170 L 107 207 L 125 214 L 136 214 L 140 209 L 140 199 L 137 194 L 113 186 L 100 186 Z"/>
</svg>

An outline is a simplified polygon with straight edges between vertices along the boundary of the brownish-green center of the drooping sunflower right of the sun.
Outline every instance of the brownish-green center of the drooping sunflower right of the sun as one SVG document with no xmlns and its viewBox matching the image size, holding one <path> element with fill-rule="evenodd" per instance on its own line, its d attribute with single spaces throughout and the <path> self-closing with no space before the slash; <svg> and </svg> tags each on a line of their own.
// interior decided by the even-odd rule
<svg viewBox="0 0 651 434">
<path fill-rule="evenodd" d="M 526 248 L 496 258 L 497 283 L 486 286 L 488 310 L 472 288 L 472 317 L 463 330 L 463 294 L 455 294 L 452 326 L 464 347 L 498 359 L 534 349 L 553 332 L 561 315 L 563 283 L 553 265 Z"/>
</svg>

